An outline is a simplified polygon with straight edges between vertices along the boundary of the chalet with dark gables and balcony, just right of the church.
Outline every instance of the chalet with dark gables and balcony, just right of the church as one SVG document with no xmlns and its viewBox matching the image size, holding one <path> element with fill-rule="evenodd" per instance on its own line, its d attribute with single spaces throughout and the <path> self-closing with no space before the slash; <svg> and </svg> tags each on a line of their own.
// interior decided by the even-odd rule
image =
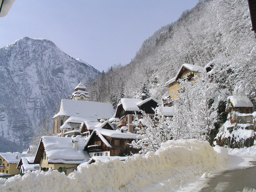
<svg viewBox="0 0 256 192">
<path fill-rule="evenodd" d="M 159 101 L 153 97 L 150 97 L 145 100 L 141 99 L 128 99 L 122 98 L 115 112 L 115 118 L 119 118 L 117 123 L 118 127 L 127 126 L 130 133 L 134 133 L 135 127 L 133 126 L 134 114 L 138 114 L 138 117 L 141 117 L 140 110 L 143 110 L 150 117 L 154 117 L 154 110 Z"/>
</svg>

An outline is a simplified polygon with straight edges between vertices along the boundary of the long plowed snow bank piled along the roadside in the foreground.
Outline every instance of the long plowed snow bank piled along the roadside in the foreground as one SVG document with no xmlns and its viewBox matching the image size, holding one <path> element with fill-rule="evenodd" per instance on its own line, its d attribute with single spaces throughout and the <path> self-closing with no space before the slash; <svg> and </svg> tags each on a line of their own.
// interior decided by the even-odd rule
<svg viewBox="0 0 256 192">
<path fill-rule="evenodd" d="M 195 139 L 168 141 L 156 152 L 78 167 L 65 176 L 56 170 L 0 179 L 0 191 L 170 191 L 205 172 L 220 170 L 227 150 Z"/>
</svg>

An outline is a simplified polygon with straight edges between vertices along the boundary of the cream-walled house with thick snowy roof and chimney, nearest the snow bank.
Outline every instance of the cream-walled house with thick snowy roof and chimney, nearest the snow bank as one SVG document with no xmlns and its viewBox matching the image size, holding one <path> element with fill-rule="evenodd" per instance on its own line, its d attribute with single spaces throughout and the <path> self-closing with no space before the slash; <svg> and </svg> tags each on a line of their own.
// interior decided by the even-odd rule
<svg viewBox="0 0 256 192">
<path fill-rule="evenodd" d="M 84 151 L 85 143 L 85 139 L 79 137 L 43 136 L 33 164 L 39 164 L 43 171 L 70 168 L 64 171 L 68 175 L 80 163 L 89 160 L 90 156 Z"/>
</svg>

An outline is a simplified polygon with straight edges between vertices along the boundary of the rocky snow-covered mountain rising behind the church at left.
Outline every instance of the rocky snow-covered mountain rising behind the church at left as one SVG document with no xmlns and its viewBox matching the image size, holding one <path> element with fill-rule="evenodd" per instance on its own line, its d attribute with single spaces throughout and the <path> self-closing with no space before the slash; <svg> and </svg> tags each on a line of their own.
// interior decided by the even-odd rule
<svg viewBox="0 0 256 192">
<path fill-rule="evenodd" d="M 52 117 L 80 79 L 100 72 L 46 39 L 24 37 L 0 49 L 0 133 L 22 147 L 39 121 Z M 1 142 L 1 141 L 0 141 Z"/>
</svg>

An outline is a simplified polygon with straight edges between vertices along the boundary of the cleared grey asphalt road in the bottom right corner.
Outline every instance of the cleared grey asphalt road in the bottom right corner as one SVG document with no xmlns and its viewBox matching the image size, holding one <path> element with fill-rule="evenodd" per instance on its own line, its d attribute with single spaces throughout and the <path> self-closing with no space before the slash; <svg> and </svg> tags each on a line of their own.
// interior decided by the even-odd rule
<svg viewBox="0 0 256 192">
<path fill-rule="evenodd" d="M 252 162 L 256 165 L 256 162 Z M 200 192 L 208 191 L 253 191 L 256 192 L 256 166 L 240 170 L 225 171 L 208 179 Z"/>
</svg>

